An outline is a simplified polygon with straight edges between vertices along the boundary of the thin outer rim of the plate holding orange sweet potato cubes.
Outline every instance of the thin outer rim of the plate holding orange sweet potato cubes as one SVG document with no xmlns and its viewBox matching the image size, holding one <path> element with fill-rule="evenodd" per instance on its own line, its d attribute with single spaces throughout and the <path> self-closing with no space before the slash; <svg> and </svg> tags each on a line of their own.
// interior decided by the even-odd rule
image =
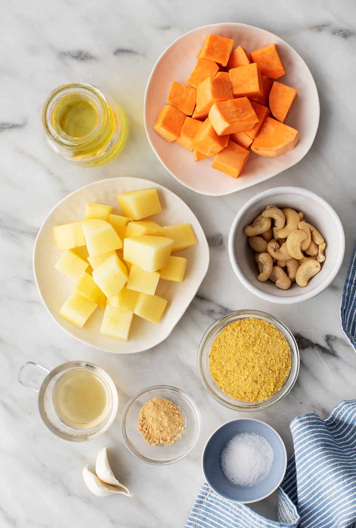
<svg viewBox="0 0 356 528">
<path fill-rule="evenodd" d="M 194 31 L 198 31 L 198 30 L 209 30 L 210 27 L 214 26 L 226 26 L 226 25 L 231 25 L 231 26 L 236 26 L 236 27 L 245 27 L 247 29 L 258 29 L 259 31 L 263 31 L 265 32 L 266 34 L 268 35 L 271 35 L 273 37 L 277 37 L 278 39 L 282 40 L 285 45 L 288 47 L 289 50 L 291 50 L 293 53 L 295 53 L 299 59 L 301 59 L 301 61 L 303 62 L 306 70 L 307 70 L 307 73 L 308 75 L 310 76 L 310 80 L 311 82 L 313 83 L 314 85 L 314 88 L 315 88 L 315 91 L 316 91 L 316 98 L 317 98 L 317 108 L 316 108 L 316 111 L 317 111 L 317 119 L 315 119 L 315 133 L 313 134 L 313 137 L 311 138 L 310 140 L 310 144 L 307 145 L 306 147 L 306 150 L 304 152 L 304 154 L 299 157 L 299 159 L 293 163 L 292 165 L 289 165 L 288 167 L 284 168 L 282 171 L 279 171 L 277 170 L 276 172 L 274 172 L 273 174 L 269 175 L 269 176 L 266 176 L 266 177 L 263 177 L 259 182 L 256 182 L 254 184 L 246 184 L 246 185 L 243 185 L 242 187 L 238 188 L 238 189 L 233 189 L 231 191 L 228 191 L 228 192 L 222 192 L 222 193 L 216 193 L 216 192 L 202 192 L 202 191 L 198 191 L 196 190 L 195 188 L 193 188 L 191 185 L 189 185 L 188 183 L 184 183 L 182 182 L 182 180 L 177 177 L 173 172 L 170 171 L 170 169 L 167 167 L 167 165 L 164 163 L 163 159 L 161 158 L 161 156 L 158 154 L 157 150 L 155 149 L 152 141 L 151 141 L 151 138 L 149 137 L 149 133 L 148 133 L 148 123 L 147 123 L 147 119 L 146 119 L 146 106 L 147 106 L 147 92 L 148 92 L 148 88 L 149 88 L 149 85 L 151 84 L 151 80 L 152 80 L 152 77 L 154 75 L 154 72 L 156 70 L 156 67 L 158 65 L 158 63 L 162 60 L 163 56 L 166 54 L 166 52 L 168 50 L 170 50 L 174 44 L 176 42 L 179 42 L 181 39 L 183 39 L 186 35 L 189 35 L 190 33 L 193 33 Z M 232 194 L 232 193 L 235 193 L 235 192 L 238 192 L 238 191 L 242 191 L 243 189 L 246 189 L 248 187 L 252 187 L 254 185 L 258 185 L 259 183 L 262 183 L 266 180 L 268 180 L 269 178 L 272 178 L 273 176 L 276 176 L 277 174 L 280 174 L 284 171 L 286 171 L 288 168 L 291 168 L 293 167 L 294 165 L 296 165 L 297 163 L 299 163 L 303 158 L 304 156 L 306 156 L 306 154 L 309 152 L 309 150 L 312 148 L 312 145 L 314 143 L 314 140 L 315 140 L 315 137 L 316 137 L 316 134 L 317 134 L 317 130 L 318 130 L 318 127 L 319 127 L 319 122 L 320 122 L 320 98 L 319 98 L 319 94 L 318 94 L 318 91 L 317 91 L 317 86 L 316 86 L 316 83 L 315 83 L 315 80 L 314 80 L 314 77 L 313 77 L 313 74 L 310 70 L 310 68 L 308 67 L 307 63 L 304 61 L 304 59 L 302 58 L 301 55 L 299 55 L 299 53 L 291 46 L 291 44 L 288 44 L 288 42 L 286 42 L 284 39 L 282 39 L 282 37 L 276 35 L 275 33 L 272 33 L 271 31 L 267 31 L 265 29 L 263 29 L 262 27 L 258 27 L 258 26 L 253 26 L 251 24 L 243 24 L 242 22 L 218 22 L 216 24 L 207 24 L 207 25 L 204 25 L 204 26 L 199 26 L 199 27 L 194 27 L 192 30 L 190 31 L 187 31 L 186 33 L 184 33 L 183 35 L 180 35 L 179 37 L 177 37 L 173 42 L 171 42 L 170 45 L 167 46 L 167 48 L 165 48 L 163 50 L 163 52 L 161 53 L 160 56 L 158 56 L 158 59 L 156 60 L 156 62 L 154 63 L 153 65 L 153 68 L 151 70 L 151 73 L 149 74 L 149 77 L 147 79 L 147 84 L 146 84 L 146 88 L 145 88 L 145 95 L 144 95 L 144 116 L 143 116 L 143 120 L 144 120 L 144 126 L 145 126 L 145 132 L 146 132 L 146 136 L 147 136 L 147 139 L 148 139 L 148 143 L 149 145 L 151 145 L 151 148 L 153 150 L 153 152 L 155 153 L 157 159 L 159 159 L 159 161 L 161 162 L 161 164 L 164 166 L 164 168 L 166 169 L 166 171 L 168 171 L 168 173 L 171 174 L 171 176 L 173 176 L 175 178 L 175 180 L 177 180 L 177 182 L 180 182 L 182 185 L 184 185 L 184 187 L 187 187 L 189 188 L 191 191 L 194 191 L 198 194 L 202 194 L 202 195 L 205 195 L 205 196 L 227 196 L 228 194 Z M 151 129 L 151 127 L 150 127 Z"/>
</svg>

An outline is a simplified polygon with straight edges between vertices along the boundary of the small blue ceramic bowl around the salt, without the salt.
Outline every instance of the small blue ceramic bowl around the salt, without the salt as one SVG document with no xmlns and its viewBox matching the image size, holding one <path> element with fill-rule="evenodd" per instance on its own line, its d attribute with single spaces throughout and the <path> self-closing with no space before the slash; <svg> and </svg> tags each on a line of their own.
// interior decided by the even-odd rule
<svg viewBox="0 0 356 528">
<path fill-rule="evenodd" d="M 254 432 L 266 438 L 274 451 L 274 460 L 269 472 L 252 486 L 232 484 L 221 469 L 221 452 L 233 436 L 242 432 Z M 204 477 L 214 492 L 227 501 L 246 504 L 261 501 L 278 488 L 286 472 L 287 452 L 282 438 L 267 423 L 253 418 L 241 418 L 224 423 L 212 433 L 204 447 L 202 467 Z"/>
</svg>

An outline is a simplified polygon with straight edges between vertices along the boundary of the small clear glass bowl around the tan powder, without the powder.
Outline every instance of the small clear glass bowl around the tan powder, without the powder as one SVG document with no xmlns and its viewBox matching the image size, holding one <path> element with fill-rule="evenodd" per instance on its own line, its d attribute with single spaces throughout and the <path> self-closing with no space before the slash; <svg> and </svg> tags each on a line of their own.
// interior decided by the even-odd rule
<svg viewBox="0 0 356 528">
<path fill-rule="evenodd" d="M 170 400 L 184 414 L 183 435 L 171 446 L 149 446 L 138 430 L 139 412 L 152 398 Z M 121 417 L 121 433 L 129 451 L 147 464 L 158 466 L 173 464 L 188 455 L 198 441 L 200 429 L 200 412 L 194 400 L 180 389 L 168 385 L 155 385 L 137 392 L 127 403 Z"/>
</svg>

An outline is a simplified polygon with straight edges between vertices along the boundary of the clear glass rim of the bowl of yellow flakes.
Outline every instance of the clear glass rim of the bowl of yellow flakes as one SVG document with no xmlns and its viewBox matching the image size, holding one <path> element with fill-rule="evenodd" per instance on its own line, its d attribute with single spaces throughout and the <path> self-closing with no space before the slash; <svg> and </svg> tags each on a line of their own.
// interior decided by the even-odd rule
<svg viewBox="0 0 356 528">
<path fill-rule="evenodd" d="M 261 315 L 263 317 L 267 316 L 268 318 L 274 319 L 280 326 L 282 326 L 284 331 L 285 331 L 285 333 L 288 335 L 289 339 L 291 340 L 291 342 L 294 345 L 294 351 L 291 350 L 291 347 L 289 347 L 289 349 L 291 351 L 291 357 L 292 357 L 292 354 L 295 352 L 295 362 L 296 362 L 296 370 L 295 370 L 294 378 L 291 380 L 291 384 L 288 386 L 288 388 L 287 388 L 285 393 L 280 393 L 279 397 L 275 401 L 270 401 L 269 403 L 266 403 L 264 406 L 257 407 L 257 408 L 246 408 L 246 409 L 237 407 L 233 403 L 229 403 L 229 402 L 223 400 L 222 398 L 220 398 L 220 396 L 218 394 L 212 392 L 212 390 L 210 389 L 210 386 L 207 383 L 205 383 L 205 376 L 203 375 L 202 368 L 201 368 L 203 350 L 204 350 L 203 342 L 206 341 L 206 339 L 207 339 L 208 335 L 211 333 L 213 327 L 217 326 L 223 319 L 226 319 L 229 316 L 235 316 L 235 315 L 243 314 L 243 313 L 249 313 L 251 315 Z M 228 314 L 223 315 L 222 317 L 219 317 L 219 319 L 214 321 L 207 328 L 207 330 L 204 332 L 204 334 L 203 334 L 203 336 L 202 336 L 202 338 L 200 340 L 196 361 L 198 363 L 198 372 L 199 372 L 200 380 L 201 380 L 205 390 L 210 394 L 210 396 L 212 398 L 214 398 L 214 400 L 216 400 L 217 402 L 221 403 L 221 405 L 223 405 L 224 407 L 227 407 L 229 409 L 232 409 L 233 411 L 238 411 L 238 412 L 257 412 L 257 411 L 262 411 L 262 410 L 268 409 L 269 407 L 272 407 L 276 403 L 278 403 L 281 400 L 283 400 L 283 398 L 287 394 L 289 394 L 289 392 L 291 392 L 291 390 L 293 389 L 293 387 L 294 387 L 294 385 L 295 385 L 295 383 L 296 383 L 296 381 L 298 379 L 299 367 L 300 367 L 300 364 L 301 364 L 300 354 L 299 354 L 299 347 L 298 347 L 298 344 L 296 342 L 296 339 L 295 339 L 292 331 L 289 330 L 289 328 L 284 323 L 282 323 L 282 321 L 277 319 L 277 317 L 275 317 L 274 315 L 268 314 L 267 312 L 262 312 L 261 310 L 250 310 L 250 309 L 235 310 L 235 312 L 229 312 Z M 280 392 L 282 390 L 282 388 L 283 388 L 283 385 L 279 389 L 278 392 Z M 278 394 L 278 392 L 276 394 Z M 237 400 L 237 401 L 239 401 L 239 400 Z M 264 400 L 264 401 L 268 402 L 268 400 Z M 256 403 L 263 403 L 263 402 L 256 402 Z M 255 418 L 251 418 L 251 420 L 254 420 L 254 419 Z M 241 420 L 242 420 L 242 418 L 241 418 Z"/>
</svg>

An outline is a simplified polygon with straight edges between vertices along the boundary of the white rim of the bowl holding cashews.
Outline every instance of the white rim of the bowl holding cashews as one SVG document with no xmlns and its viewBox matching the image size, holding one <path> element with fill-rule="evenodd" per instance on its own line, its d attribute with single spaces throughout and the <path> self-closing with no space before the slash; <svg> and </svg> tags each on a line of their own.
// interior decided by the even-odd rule
<svg viewBox="0 0 356 528">
<path fill-rule="evenodd" d="M 240 222 L 242 216 L 249 210 L 251 205 L 254 205 L 259 200 L 264 199 L 266 197 L 271 197 L 277 194 L 299 194 L 302 196 L 307 196 L 316 202 L 322 204 L 324 208 L 329 212 L 331 218 L 333 219 L 336 230 L 339 233 L 339 240 L 340 240 L 340 251 L 338 254 L 338 257 L 336 258 L 335 265 L 333 269 L 330 271 L 329 276 L 326 277 L 326 279 L 319 285 L 313 288 L 310 291 L 307 291 L 305 293 L 301 293 L 299 295 L 292 295 L 291 297 L 279 297 L 278 294 L 268 294 L 263 290 L 260 290 L 243 275 L 242 271 L 240 270 L 240 266 L 237 263 L 236 254 L 235 254 L 235 238 L 236 238 L 236 230 L 237 230 L 237 224 Z M 241 209 L 236 214 L 235 218 L 233 219 L 233 222 L 231 224 L 230 232 L 229 232 L 229 239 L 228 239 L 228 251 L 229 251 L 229 259 L 232 266 L 233 271 L 235 272 L 235 275 L 240 279 L 240 282 L 242 282 L 243 286 L 251 291 L 251 293 L 255 294 L 257 297 L 260 297 L 263 300 L 267 300 L 270 303 L 275 304 L 295 304 L 295 303 L 301 303 L 302 301 L 312 299 L 313 297 L 316 297 L 318 294 L 322 293 L 334 280 L 336 275 L 338 274 L 343 259 L 344 259 L 344 253 L 345 253 L 345 232 L 342 225 L 342 222 L 340 220 L 340 217 L 338 213 L 336 213 L 335 209 L 328 203 L 324 198 L 322 198 L 320 195 L 309 191 L 308 189 L 305 189 L 304 187 L 273 187 L 270 189 L 267 189 L 266 191 L 262 191 L 259 194 L 256 194 L 255 196 L 252 196 L 250 200 L 248 200 L 245 205 L 241 207 Z"/>
</svg>

